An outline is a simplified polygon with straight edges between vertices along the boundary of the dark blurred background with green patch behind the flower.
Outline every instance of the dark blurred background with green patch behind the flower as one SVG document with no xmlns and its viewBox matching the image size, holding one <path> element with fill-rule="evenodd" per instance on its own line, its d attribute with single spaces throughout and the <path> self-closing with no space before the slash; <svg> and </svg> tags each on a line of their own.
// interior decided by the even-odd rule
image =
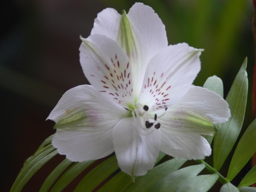
<svg viewBox="0 0 256 192">
<path fill-rule="evenodd" d="M 133 0 L 2 0 L 0 2 L 0 191 L 9 191 L 25 159 L 54 133 L 45 121 L 68 89 L 86 84 L 79 63 L 79 35 L 87 37 L 102 9 L 121 12 Z M 245 127 L 252 121 L 254 65 L 252 0 L 144 0 L 166 26 L 169 44 L 203 48 L 195 85 L 222 78 L 225 95 L 248 57 L 249 97 Z M 54 163 L 49 167 L 54 167 Z M 250 165 L 248 165 L 250 166 Z M 25 191 L 38 191 L 40 172 Z M 225 170 L 224 170 L 225 172 Z M 240 178 L 243 173 L 240 175 Z"/>
</svg>

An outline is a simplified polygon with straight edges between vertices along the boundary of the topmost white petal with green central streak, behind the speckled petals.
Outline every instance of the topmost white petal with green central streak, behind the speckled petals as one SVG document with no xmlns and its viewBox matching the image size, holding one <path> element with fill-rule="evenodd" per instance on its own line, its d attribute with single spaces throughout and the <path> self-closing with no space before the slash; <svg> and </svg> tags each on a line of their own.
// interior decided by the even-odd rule
<svg viewBox="0 0 256 192">
<path fill-rule="evenodd" d="M 124 21 L 126 24 L 123 23 Z M 124 25 L 121 25 L 122 23 Z M 131 34 L 129 36 L 126 36 L 127 31 L 123 30 L 123 26 L 130 29 Z M 123 33 L 125 34 L 122 35 Z M 107 36 L 117 41 L 126 51 L 130 65 L 132 65 L 134 83 L 136 82 L 136 86 L 134 86 L 136 95 L 139 94 L 143 74 L 145 74 L 149 60 L 168 46 L 164 24 L 157 13 L 143 3 L 135 3 L 127 15 L 123 13 L 123 16 L 117 13 L 115 9 L 104 9 L 95 19 L 91 34 Z M 129 39 L 126 39 L 127 37 Z M 126 50 L 126 42 L 131 43 L 128 47 L 132 50 Z"/>
</svg>

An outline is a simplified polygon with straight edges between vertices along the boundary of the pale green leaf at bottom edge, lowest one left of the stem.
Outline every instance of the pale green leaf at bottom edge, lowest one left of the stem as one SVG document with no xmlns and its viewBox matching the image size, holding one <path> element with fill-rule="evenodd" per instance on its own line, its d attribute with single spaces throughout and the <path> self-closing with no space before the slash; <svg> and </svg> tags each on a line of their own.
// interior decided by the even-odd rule
<svg viewBox="0 0 256 192">
<path fill-rule="evenodd" d="M 218 178 L 218 174 L 198 175 L 180 185 L 176 192 L 207 192 Z"/>
</svg>

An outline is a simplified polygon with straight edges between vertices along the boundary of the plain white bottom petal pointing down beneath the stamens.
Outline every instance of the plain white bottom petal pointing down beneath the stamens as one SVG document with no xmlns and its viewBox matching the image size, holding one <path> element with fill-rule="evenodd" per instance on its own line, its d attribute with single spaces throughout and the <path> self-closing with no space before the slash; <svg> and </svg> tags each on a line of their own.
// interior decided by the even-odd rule
<svg viewBox="0 0 256 192">
<path fill-rule="evenodd" d="M 141 135 L 133 118 L 122 119 L 113 130 L 113 143 L 118 165 L 130 176 L 140 176 L 153 168 L 159 154 L 161 132 Z"/>
</svg>

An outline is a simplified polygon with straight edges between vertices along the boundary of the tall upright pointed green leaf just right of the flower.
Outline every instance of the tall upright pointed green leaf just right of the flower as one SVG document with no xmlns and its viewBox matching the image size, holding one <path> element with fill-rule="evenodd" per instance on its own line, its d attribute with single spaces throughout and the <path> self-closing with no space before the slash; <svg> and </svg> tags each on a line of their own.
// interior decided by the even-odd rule
<svg viewBox="0 0 256 192">
<path fill-rule="evenodd" d="M 227 122 L 216 126 L 217 132 L 213 143 L 213 165 L 217 171 L 220 170 L 227 159 L 243 125 L 248 93 L 246 66 L 247 58 L 245 58 L 226 98 L 231 110 L 231 117 Z"/>
</svg>

